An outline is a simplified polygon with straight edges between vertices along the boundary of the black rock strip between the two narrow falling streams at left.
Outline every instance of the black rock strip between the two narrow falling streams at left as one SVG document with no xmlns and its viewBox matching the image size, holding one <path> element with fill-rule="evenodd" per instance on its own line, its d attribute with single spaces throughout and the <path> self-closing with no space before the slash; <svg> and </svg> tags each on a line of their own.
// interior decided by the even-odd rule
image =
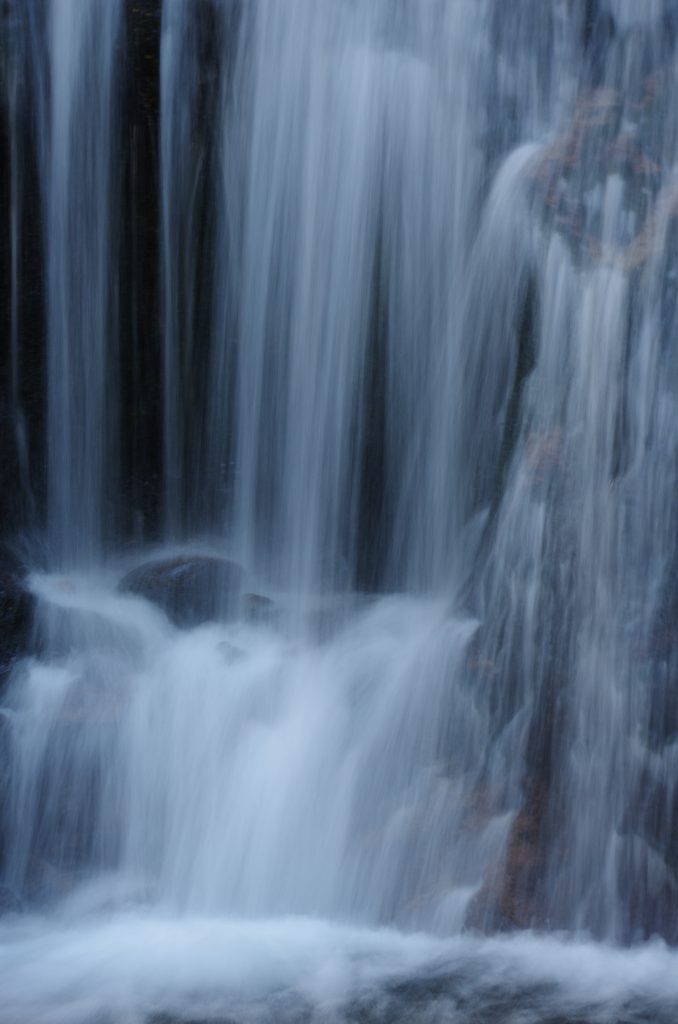
<svg viewBox="0 0 678 1024">
<path fill-rule="evenodd" d="M 121 532 L 160 536 L 162 317 L 160 310 L 160 0 L 125 6 L 127 39 L 121 139 L 120 386 Z"/>
</svg>

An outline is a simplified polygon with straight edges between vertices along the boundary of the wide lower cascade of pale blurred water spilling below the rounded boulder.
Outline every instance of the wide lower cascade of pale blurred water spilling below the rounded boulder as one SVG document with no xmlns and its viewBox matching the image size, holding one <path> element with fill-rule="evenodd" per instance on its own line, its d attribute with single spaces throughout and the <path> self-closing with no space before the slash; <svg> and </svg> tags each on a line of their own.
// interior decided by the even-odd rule
<svg viewBox="0 0 678 1024">
<path fill-rule="evenodd" d="M 459 927 L 450 850 L 472 888 L 502 835 L 481 812 L 455 826 L 488 741 L 471 693 L 453 697 L 454 771 L 440 746 L 473 623 L 393 598 L 300 646 L 244 623 L 184 634 L 84 581 L 36 586 L 51 654 L 10 713 L 13 889 L 115 869 L 177 910 Z"/>
</svg>

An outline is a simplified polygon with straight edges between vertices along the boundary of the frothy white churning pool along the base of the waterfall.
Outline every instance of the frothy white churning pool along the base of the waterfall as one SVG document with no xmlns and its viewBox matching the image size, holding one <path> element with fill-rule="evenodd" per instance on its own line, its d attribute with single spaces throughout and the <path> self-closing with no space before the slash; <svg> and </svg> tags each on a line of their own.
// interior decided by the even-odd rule
<svg viewBox="0 0 678 1024">
<path fill-rule="evenodd" d="M 65 903 L 0 924 L 3 1024 L 675 1024 L 678 953 Z"/>
</svg>

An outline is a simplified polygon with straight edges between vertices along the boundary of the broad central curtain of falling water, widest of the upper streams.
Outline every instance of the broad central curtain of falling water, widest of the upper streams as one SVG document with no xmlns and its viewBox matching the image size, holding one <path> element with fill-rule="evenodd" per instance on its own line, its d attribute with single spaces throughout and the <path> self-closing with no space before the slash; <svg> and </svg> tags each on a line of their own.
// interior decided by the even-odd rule
<svg viewBox="0 0 678 1024">
<path fill-rule="evenodd" d="M 238 65 L 244 215 L 217 285 L 237 267 L 237 358 L 221 328 L 212 394 L 218 409 L 237 362 L 237 529 L 246 560 L 286 586 L 426 586 L 449 565 L 414 551 L 435 532 L 419 462 L 437 424 L 419 399 L 437 388 L 442 402 L 458 337 L 446 344 L 477 203 L 466 110 L 482 19 L 463 5 L 254 8 Z"/>
</svg>

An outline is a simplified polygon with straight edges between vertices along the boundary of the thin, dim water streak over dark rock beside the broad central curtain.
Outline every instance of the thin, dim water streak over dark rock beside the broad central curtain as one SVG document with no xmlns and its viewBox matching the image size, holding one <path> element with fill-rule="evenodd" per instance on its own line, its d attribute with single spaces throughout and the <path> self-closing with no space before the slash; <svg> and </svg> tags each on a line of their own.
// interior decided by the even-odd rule
<svg viewBox="0 0 678 1024">
<path fill-rule="evenodd" d="M 232 338 L 220 333 L 219 310 L 229 305 L 234 267 L 227 253 L 224 209 L 240 196 L 219 186 L 239 160 L 219 138 L 219 109 L 227 103 L 230 51 L 237 46 L 235 0 L 163 5 L 160 90 L 160 174 L 163 288 L 164 522 L 176 540 L 215 520 L 223 528 L 222 471 L 208 453 L 231 427 L 229 381 L 217 370 L 214 339 L 221 348 Z M 221 159 L 220 159 L 221 158 Z M 214 264 L 223 266 L 215 284 Z M 212 439 L 215 395 L 225 420 Z M 209 465 L 208 465 L 209 464 Z M 214 475 L 212 475 L 214 474 Z"/>
</svg>

